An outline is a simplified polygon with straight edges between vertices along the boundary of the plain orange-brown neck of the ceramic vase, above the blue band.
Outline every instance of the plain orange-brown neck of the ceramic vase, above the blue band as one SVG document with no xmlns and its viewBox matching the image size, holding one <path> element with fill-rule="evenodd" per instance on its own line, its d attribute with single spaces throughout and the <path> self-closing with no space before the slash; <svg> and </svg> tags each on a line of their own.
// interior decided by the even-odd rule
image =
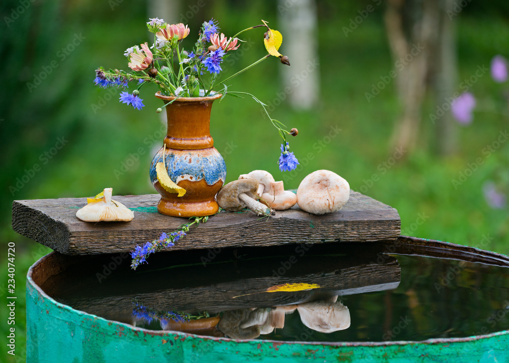
<svg viewBox="0 0 509 363">
<path fill-rule="evenodd" d="M 164 144 L 169 149 L 196 150 L 214 146 L 210 137 L 210 111 L 213 100 L 176 100 L 166 106 L 168 130 Z"/>
</svg>

